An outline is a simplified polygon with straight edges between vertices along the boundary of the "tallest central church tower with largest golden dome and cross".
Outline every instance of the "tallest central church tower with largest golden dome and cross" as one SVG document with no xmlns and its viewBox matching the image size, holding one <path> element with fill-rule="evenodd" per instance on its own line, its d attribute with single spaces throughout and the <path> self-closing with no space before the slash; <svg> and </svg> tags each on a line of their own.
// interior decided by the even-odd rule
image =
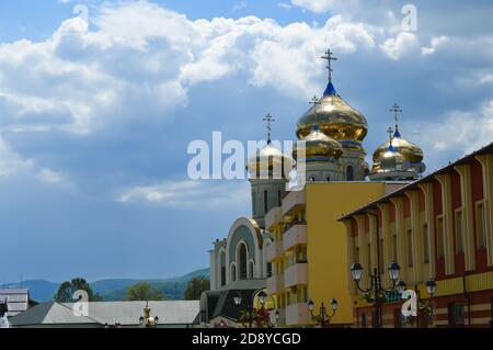
<svg viewBox="0 0 493 350">
<path fill-rule="evenodd" d="M 335 91 L 332 61 L 337 58 L 330 49 L 321 58 L 328 60 L 329 83 L 323 97 L 313 100 L 312 106 L 299 118 L 296 134 L 300 140 L 312 142 L 317 129 L 330 138 L 325 142 L 333 144 L 335 140 L 342 148 L 342 155 L 333 149 L 326 159 L 312 159 L 307 148 L 307 181 L 364 181 L 368 174 L 368 163 L 362 142 L 368 133 L 367 121 Z"/>
</svg>

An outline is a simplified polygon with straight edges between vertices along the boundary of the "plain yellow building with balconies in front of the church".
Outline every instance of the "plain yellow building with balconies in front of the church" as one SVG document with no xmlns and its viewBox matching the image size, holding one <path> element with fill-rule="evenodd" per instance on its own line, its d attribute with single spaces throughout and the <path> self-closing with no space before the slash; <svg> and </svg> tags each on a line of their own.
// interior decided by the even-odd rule
<svg viewBox="0 0 493 350">
<path fill-rule="evenodd" d="M 346 230 L 337 219 L 397 187 L 364 181 L 308 183 L 267 213 L 265 227 L 274 234 L 265 248 L 273 264 L 267 290 L 276 300 L 282 325 L 312 324 L 308 300 L 314 302 L 317 313 L 322 302 L 328 306 L 333 297 L 339 308 L 332 325 L 353 324 Z"/>
</svg>

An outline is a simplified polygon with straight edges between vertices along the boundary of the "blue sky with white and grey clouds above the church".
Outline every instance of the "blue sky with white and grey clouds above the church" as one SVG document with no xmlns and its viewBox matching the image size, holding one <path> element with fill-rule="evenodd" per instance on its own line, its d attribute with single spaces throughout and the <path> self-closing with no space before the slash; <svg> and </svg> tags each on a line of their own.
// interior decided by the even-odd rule
<svg viewBox="0 0 493 350">
<path fill-rule="evenodd" d="M 403 31 L 402 8 L 417 10 Z M 294 139 L 326 82 L 432 171 L 493 140 L 491 1 L 0 3 L 0 278 L 167 278 L 208 266 L 246 181 L 191 181 L 194 139 Z"/>
</svg>

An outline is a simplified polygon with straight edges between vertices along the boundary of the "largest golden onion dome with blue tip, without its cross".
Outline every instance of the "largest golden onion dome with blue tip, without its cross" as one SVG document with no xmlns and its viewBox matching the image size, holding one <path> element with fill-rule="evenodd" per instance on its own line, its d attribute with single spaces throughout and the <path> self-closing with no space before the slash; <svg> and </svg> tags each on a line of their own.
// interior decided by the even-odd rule
<svg viewBox="0 0 493 350">
<path fill-rule="evenodd" d="M 323 98 L 299 118 L 296 127 L 298 138 L 307 137 L 314 125 L 335 140 L 362 142 L 368 133 L 365 116 L 335 92 L 332 82 L 329 82 Z"/>
</svg>

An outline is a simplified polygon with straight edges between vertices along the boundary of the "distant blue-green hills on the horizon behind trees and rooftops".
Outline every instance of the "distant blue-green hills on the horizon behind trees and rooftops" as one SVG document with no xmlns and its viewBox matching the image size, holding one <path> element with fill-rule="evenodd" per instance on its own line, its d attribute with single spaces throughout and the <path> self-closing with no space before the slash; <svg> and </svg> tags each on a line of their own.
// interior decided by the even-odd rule
<svg viewBox="0 0 493 350">
<path fill-rule="evenodd" d="M 210 269 L 197 270 L 182 276 L 164 280 L 136 280 L 136 279 L 115 279 L 101 280 L 91 283 L 95 293 L 103 296 L 104 301 L 123 301 L 127 293 L 127 287 L 139 283 L 149 282 L 153 287 L 161 291 L 168 300 L 182 300 L 188 282 L 195 276 L 210 278 Z M 54 283 L 44 280 L 31 280 L 22 282 L 23 287 L 30 289 L 31 298 L 44 303 L 53 301 L 60 283 Z M 20 287 L 21 283 L 8 283 L 5 286 Z"/>
</svg>

